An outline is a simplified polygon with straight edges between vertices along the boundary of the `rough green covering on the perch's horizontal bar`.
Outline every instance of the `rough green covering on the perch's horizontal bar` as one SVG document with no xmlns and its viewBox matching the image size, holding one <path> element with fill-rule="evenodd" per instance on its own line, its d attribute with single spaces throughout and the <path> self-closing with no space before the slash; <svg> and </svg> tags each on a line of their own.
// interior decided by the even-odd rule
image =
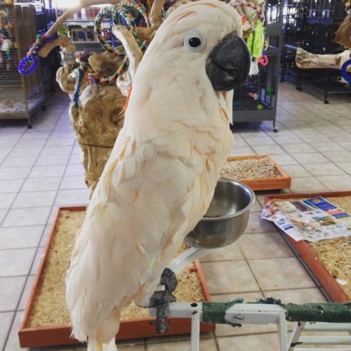
<svg viewBox="0 0 351 351">
<path fill-rule="evenodd" d="M 203 302 L 202 321 L 204 323 L 228 324 L 225 319 L 226 310 L 235 304 L 242 304 L 243 299 L 235 299 L 226 303 Z M 280 300 L 258 300 L 252 304 L 279 305 L 286 310 L 287 321 L 309 321 L 326 323 L 351 323 L 351 302 L 347 304 L 321 303 L 321 304 L 281 304 Z M 233 326 L 240 326 L 234 324 Z"/>
</svg>

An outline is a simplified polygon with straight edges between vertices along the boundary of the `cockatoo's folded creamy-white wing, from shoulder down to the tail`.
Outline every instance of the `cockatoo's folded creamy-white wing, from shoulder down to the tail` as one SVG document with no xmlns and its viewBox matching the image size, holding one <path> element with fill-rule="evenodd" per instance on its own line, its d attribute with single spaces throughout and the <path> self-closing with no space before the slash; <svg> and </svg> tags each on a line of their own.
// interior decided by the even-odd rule
<svg viewBox="0 0 351 351">
<path fill-rule="evenodd" d="M 111 340 L 118 318 L 110 328 L 112 334 L 102 328 L 104 335 L 96 335 L 103 321 L 112 311 L 117 316 L 136 292 L 142 293 L 147 281 L 157 284 L 164 268 L 158 262 L 169 262 L 171 258 L 164 255 L 172 257 L 187 226 L 196 224 L 187 219 L 191 204 L 200 199 L 201 185 L 194 183 L 195 178 L 190 166 L 152 140 L 120 132 L 67 272 L 75 337 Z M 206 206 L 201 207 L 204 213 Z M 167 246 L 171 249 L 164 251 Z"/>
</svg>

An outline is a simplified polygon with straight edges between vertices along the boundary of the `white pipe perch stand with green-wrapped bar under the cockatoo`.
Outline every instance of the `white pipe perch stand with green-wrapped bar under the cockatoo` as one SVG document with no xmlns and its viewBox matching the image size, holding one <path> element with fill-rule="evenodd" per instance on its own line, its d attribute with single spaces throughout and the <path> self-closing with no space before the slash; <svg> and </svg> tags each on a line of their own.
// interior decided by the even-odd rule
<svg viewBox="0 0 351 351">
<path fill-rule="evenodd" d="M 169 318 L 191 319 L 191 351 L 200 350 L 200 322 L 231 324 L 268 324 L 278 326 L 279 351 L 309 351 L 311 348 L 297 348 L 310 345 L 351 345 L 351 336 L 301 336 L 309 332 L 348 332 L 351 333 L 351 303 L 337 304 L 269 304 L 269 303 L 228 303 L 215 302 L 173 302 L 169 308 Z M 261 302 L 261 301 L 259 301 Z M 156 309 L 149 310 L 151 317 Z M 303 319 L 309 319 L 305 321 Z M 299 320 L 297 320 L 299 319 Z M 288 341 L 288 321 L 295 322 Z M 317 351 L 350 351 L 345 348 L 313 348 Z M 272 350 L 273 351 L 273 350 Z"/>
</svg>

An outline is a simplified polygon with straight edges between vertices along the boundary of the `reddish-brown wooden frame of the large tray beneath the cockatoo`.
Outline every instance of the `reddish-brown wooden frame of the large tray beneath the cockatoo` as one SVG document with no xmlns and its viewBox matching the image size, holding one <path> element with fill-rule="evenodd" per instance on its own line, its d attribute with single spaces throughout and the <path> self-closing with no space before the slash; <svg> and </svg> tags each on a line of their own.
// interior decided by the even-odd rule
<svg viewBox="0 0 351 351">
<path fill-rule="evenodd" d="M 19 343 L 21 345 L 21 348 L 36 348 L 52 345 L 72 345 L 80 343 L 78 340 L 70 337 L 70 325 L 47 326 L 40 328 L 28 328 L 27 325 L 30 317 L 30 312 L 34 303 L 34 297 L 39 288 L 39 281 L 41 279 L 47 256 L 50 251 L 60 211 L 85 211 L 85 209 L 85 206 L 69 206 L 58 208 L 54 224 L 50 232 L 50 237 L 47 240 L 45 251 L 41 258 L 41 264 L 39 266 L 38 273 L 36 274 L 36 277 L 34 279 L 32 291 L 30 293 L 28 303 L 25 307 L 24 316 L 21 321 L 21 326 L 19 328 Z M 204 293 L 204 299 L 205 301 L 211 301 L 211 297 L 209 295 L 209 290 L 206 286 L 206 281 L 204 279 L 204 273 L 202 272 L 200 262 L 198 262 L 197 260 L 194 263 L 194 270 L 197 270 L 198 272 L 198 277 L 200 279 L 200 284 Z M 145 337 L 162 337 L 175 334 L 189 334 L 191 331 L 190 319 L 170 319 L 171 327 L 162 335 L 156 332 L 155 326 L 152 326 L 150 324 L 151 321 L 153 321 L 153 319 L 150 317 L 122 320 L 120 322 L 120 330 L 116 336 L 116 339 L 125 340 L 140 339 Z M 210 332 L 212 330 L 215 330 L 215 324 L 201 323 L 201 332 Z"/>
</svg>

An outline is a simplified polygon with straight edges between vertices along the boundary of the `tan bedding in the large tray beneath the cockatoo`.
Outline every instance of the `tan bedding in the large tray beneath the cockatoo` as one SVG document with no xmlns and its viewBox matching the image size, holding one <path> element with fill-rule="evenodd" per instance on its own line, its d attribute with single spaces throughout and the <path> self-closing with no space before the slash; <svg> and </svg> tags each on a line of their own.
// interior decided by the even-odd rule
<svg viewBox="0 0 351 351">
<path fill-rule="evenodd" d="M 41 275 L 39 289 L 31 310 L 28 328 L 58 326 L 70 323 L 65 301 L 65 275 L 70 266 L 74 238 L 81 228 L 85 211 L 61 211 L 50 253 Z M 187 250 L 183 245 L 177 255 Z M 204 301 L 202 287 L 196 271 L 187 268 L 178 275 L 175 290 L 178 301 Z M 149 317 L 149 311 L 131 304 L 122 310 L 122 319 Z"/>
</svg>

